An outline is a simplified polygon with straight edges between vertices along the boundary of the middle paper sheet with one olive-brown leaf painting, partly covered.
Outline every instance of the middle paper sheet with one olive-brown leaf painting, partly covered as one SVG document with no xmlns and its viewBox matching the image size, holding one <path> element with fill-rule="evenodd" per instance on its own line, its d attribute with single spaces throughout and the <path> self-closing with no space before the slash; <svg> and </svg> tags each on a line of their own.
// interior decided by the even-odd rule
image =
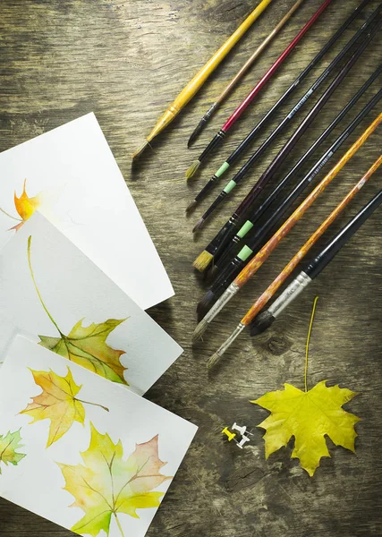
<svg viewBox="0 0 382 537">
<path fill-rule="evenodd" d="M 17 334 L 140 395 L 182 354 L 38 211 L 0 251 L 0 357 Z"/>
</svg>

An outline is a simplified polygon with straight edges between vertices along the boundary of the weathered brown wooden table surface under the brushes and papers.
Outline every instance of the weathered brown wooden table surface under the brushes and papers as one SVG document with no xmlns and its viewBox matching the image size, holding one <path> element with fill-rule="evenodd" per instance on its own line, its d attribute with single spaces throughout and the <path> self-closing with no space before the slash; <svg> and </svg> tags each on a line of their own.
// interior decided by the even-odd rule
<svg viewBox="0 0 382 537">
<path fill-rule="evenodd" d="M 225 147 L 209 160 L 197 180 L 187 184 L 185 169 L 319 4 L 318 0 L 306 0 L 281 37 L 267 48 L 225 102 L 200 141 L 188 150 L 186 141 L 199 117 L 293 1 L 275 0 L 268 7 L 228 61 L 221 65 L 153 150 L 144 154 L 140 166 L 133 171 L 131 155 L 140 145 L 142 136 L 149 133 L 178 91 L 250 13 L 255 2 L 2 0 L 0 3 L 0 150 L 94 111 L 174 284 L 174 298 L 150 313 L 183 345 L 184 354 L 147 396 L 199 425 L 199 432 L 149 529 L 150 537 L 382 534 L 380 210 L 267 333 L 256 341 L 243 334 L 213 376 L 208 377 L 205 365 L 208 356 L 228 336 L 242 313 L 378 158 L 382 128 L 280 244 L 246 290 L 229 304 L 219 322 L 206 334 L 203 344 L 191 349 L 195 306 L 206 289 L 202 278 L 193 272 L 191 263 L 231 214 L 248 185 L 276 155 L 287 135 L 259 161 L 246 184 L 237 189 L 240 192 L 235 193 L 196 240 L 192 239 L 191 228 L 200 211 L 186 218 L 184 209 L 243 134 L 276 102 L 359 4 L 358 0 L 333 1 L 276 78 L 262 91 L 256 104 L 247 111 Z M 366 13 L 376 6 L 377 2 L 370 2 L 365 13 L 344 33 L 325 61 L 310 73 L 301 89 L 280 111 L 274 125 L 310 87 L 324 65 L 335 57 L 354 29 L 364 21 Z M 381 51 L 379 35 L 293 150 L 284 172 L 374 71 Z M 379 79 L 336 129 L 337 134 L 380 85 Z M 316 102 L 317 98 L 318 95 L 312 101 Z M 344 144 L 345 149 L 380 109 L 381 105 L 376 107 L 352 134 Z M 324 144 L 325 149 L 334 139 L 335 134 Z M 321 152 L 322 149 L 318 154 Z M 339 155 L 343 153 L 341 149 Z M 310 166 L 314 161 L 315 158 L 310 159 Z M 332 165 L 328 164 L 325 169 L 328 171 Z M 279 174 L 279 178 L 282 175 Z M 321 177 L 323 175 L 324 171 L 320 173 Z M 381 179 L 382 170 L 344 211 L 327 236 L 332 236 L 378 192 Z M 207 201 L 203 207 L 206 206 Z M 290 459 L 293 442 L 265 461 L 262 430 L 255 430 L 250 446 L 242 451 L 233 443 L 228 444 L 220 431 L 234 421 L 256 426 L 266 417 L 267 412 L 250 405 L 250 399 L 281 388 L 284 382 L 303 388 L 304 346 L 316 294 L 320 299 L 310 345 L 309 384 L 313 386 L 321 379 L 328 379 L 330 385 L 340 383 L 361 392 L 347 409 L 362 421 L 357 425 L 356 454 L 335 447 L 328 440 L 331 457 L 322 459 L 311 479 L 301 470 L 298 461 Z M 2 537 L 69 537 L 71 534 L 0 500 Z"/>
</svg>

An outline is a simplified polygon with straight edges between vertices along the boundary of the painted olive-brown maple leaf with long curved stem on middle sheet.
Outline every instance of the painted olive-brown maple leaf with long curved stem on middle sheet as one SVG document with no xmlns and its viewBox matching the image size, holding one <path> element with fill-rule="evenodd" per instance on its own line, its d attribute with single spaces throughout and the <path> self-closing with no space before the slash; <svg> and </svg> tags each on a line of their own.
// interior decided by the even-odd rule
<svg viewBox="0 0 382 537">
<path fill-rule="evenodd" d="M 32 237 L 30 235 L 28 238 L 30 276 L 32 277 L 42 307 L 47 312 L 48 318 L 52 321 L 52 324 L 60 335 L 60 337 L 38 336 L 40 338 L 39 345 L 45 346 L 50 351 L 60 354 L 60 356 L 64 356 L 64 358 L 76 362 L 90 371 L 98 373 L 101 377 L 128 386 L 129 383 L 123 376 L 127 368 L 120 361 L 125 351 L 116 350 L 106 344 L 106 339 L 110 333 L 127 320 L 127 318 L 120 320 L 108 319 L 99 324 L 90 324 L 89 327 L 83 327 L 83 319 L 81 319 L 74 325 L 69 334 L 65 335 L 58 327 L 51 313 L 47 310 L 47 306 L 39 293 L 31 262 L 31 241 Z"/>
</svg>

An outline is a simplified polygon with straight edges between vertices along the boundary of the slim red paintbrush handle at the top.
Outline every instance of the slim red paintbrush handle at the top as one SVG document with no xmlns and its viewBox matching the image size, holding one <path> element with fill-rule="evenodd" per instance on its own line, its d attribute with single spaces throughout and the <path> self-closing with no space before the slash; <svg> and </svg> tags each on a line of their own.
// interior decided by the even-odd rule
<svg viewBox="0 0 382 537">
<path fill-rule="evenodd" d="M 284 63 L 288 55 L 291 54 L 293 51 L 293 48 L 299 43 L 301 38 L 306 34 L 306 32 L 310 29 L 310 26 L 312 26 L 317 20 L 319 15 L 324 12 L 327 9 L 327 6 L 332 2 L 332 0 L 326 0 L 324 4 L 321 5 L 321 7 L 318 9 L 316 13 L 311 17 L 310 21 L 308 21 L 305 26 L 302 28 L 302 30 L 297 34 L 297 36 L 293 39 L 292 43 L 285 48 L 282 55 L 280 55 L 275 64 L 273 64 L 268 71 L 265 73 L 263 78 L 256 84 L 256 86 L 253 88 L 253 90 L 250 91 L 250 94 L 242 101 L 242 104 L 236 108 L 236 110 L 233 112 L 233 115 L 231 115 L 228 120 L 225 122 L 225 124 L 222 127 L 222 131 L 227 132 L 229 129 L 233 126 L 233 124 L 239 119 L 239 117 L 242 115 L 244 110 L 247 109 L 247 107 L 250 106 L 250 103 L 252 100 L 258 95 L 259 91 L 264 88 L 264 86 L 267 84 L 267 81 L 273 76 L 273 74 L 277 71 L 277 69 L 280 67 L 281 64 Z"/>
</svg>

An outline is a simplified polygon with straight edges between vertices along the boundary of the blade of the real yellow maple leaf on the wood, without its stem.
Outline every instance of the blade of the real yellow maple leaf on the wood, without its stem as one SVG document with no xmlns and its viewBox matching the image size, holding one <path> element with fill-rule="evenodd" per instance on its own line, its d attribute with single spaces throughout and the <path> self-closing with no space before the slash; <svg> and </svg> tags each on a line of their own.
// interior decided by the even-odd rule
<svg viewBox="0 0 382 537">
<path fill-rule="evenodd" d="M 357 394 L 338 385 L 328 388 L 326 383 L 322 380 L 309 391 L 284 384 L 284 390 L 268 392 L 251 401 L 271 412 L 258 426 L 266 430 L 266 458 L 294 436 L 292 458 L 299 458 L 311 477 L 321 457 L 330 456 L 326 435 L 336 446 L 354 452 L 354 425 L 360 418 L 344 411 L 342 406 Z"/>
</svg>

